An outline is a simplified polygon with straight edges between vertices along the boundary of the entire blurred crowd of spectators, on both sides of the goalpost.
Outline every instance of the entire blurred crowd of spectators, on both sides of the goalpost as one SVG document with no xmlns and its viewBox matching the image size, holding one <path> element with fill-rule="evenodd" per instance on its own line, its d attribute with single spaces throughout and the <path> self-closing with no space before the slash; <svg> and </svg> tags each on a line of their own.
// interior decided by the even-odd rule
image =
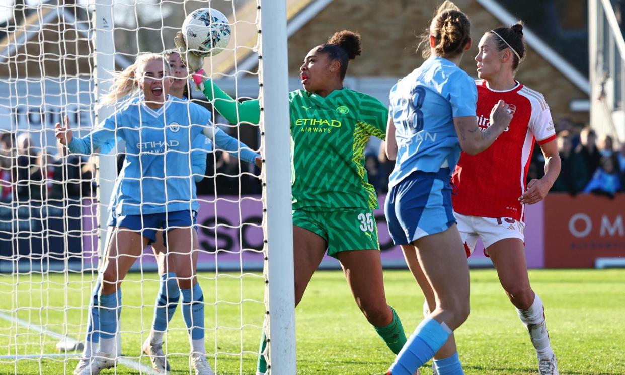
<svg viewBox="0 0 625 375">
<path fill-rule="evenodd" d="M 239 127 L 241 128 L 241 127 Z M 224 128 L 232 132 L 234 128 Z M 562 169 L 551 191 L 600 194 L 614 197 L 625 191 L 625 144 L 617 148 L 610 136 L 597 139 L 592 129 L 582 128 L 571 119 L 556 121 L 557 148 Z M 238 130 L 241 141 L 258 148 L 257 129 Z M 93 197 L 96 194 L 96 157 L 73 154 L 59 145 L 56 154 L 36 148 L 27 133 L 0 136 L 0 203 L 44 201 Z M 394 161 L 386 159 L 383 144 L 372 142 L 365 151 L 365 168 L 376 191 L 388 191 L 388 177 Z M 124 154 L 118 154 L 118 171 Z M 228 153 L 207 153 L 206 177 L 197 184 L 198 195 L 260 194 L 260 171 L 241 163 Z M 534 148 L 528 181 L 544 176 L 544 156 Z"/>
</svg>

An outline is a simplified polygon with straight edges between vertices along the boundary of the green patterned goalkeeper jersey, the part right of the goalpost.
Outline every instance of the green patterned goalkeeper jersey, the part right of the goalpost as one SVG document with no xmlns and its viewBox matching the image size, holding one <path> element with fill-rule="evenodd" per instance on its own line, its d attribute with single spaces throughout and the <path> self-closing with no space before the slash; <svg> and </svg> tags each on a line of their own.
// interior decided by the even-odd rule
<svg viewBox="0 0 625 375">
<path fill-rule="evenodd" d="M 292 91 L 289 101 L 293 209 L 376 209 L 376 191 L 364 169 L 364 148 L 370 136 L 385 138 L 386 106 L 347 88 L 325 98 Z"/>
</svg>

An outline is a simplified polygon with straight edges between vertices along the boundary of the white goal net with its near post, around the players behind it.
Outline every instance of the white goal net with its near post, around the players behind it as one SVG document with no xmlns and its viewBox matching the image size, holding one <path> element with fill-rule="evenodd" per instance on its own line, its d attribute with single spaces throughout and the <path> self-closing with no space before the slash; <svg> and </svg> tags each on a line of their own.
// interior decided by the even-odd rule
<svg viewBox="0 0 625 375">
<path fill-rule="evenodd" d="M 252 373 L 264 331 L 269 372 L 294 374 L 284 2 L 8 3 L 0 5 L 0 373 L 73 373 L 111 232 L 109 202 L 124 144 L 108 154 L 71 154 L 59 147 L 54 124 L 68 116 L 74 137 L 86 136 L 114 111 L 96 106 L 110 91 L 113 72 L 140 53 L 173 49 L 184 18 L 210 7 L 227 16 L 232 37 L 225 51 L 205 59 L 204 71 L 233 98 L 259 99 L 261 123 L 227 122 L 192 81 L 187 95 L 264 163 L 261 170 L 239 161 L 240 149 L 204 149 L 193 251 L 204 294 L 206 357 L 216 373 Z M 263 48 L 269 41 L 275 48 Z M 142 344 L 160 282 L 148 246 L 121 287 L 115 373 L 153 373 Z M 163 351 L 172 371 L 187 373 L 181 311 L 178 306 L 169 323 Z"/>
</svg>

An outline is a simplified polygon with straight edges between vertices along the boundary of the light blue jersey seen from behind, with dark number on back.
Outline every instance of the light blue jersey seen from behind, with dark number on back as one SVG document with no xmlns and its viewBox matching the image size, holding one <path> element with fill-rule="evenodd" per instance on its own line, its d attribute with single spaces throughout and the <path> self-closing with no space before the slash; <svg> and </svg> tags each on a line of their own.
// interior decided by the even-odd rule
<svg viewBox="0 0 625 375">
<path fill-rule="evenodd" d="M 390 99 L 397 159 L 389 187 L 414 171 L 453 170 L 461 150 L 454 117 L 475 116 L 473 79 L 456 64 L 435 56 L 397 82 Z"/>
</svg>

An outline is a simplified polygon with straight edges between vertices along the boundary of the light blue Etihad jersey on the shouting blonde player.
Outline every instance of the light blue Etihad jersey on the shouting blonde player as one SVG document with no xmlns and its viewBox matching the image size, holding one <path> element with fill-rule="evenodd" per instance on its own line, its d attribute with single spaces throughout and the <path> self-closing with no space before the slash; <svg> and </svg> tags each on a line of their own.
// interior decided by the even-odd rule
<svg viewBox="0 0 625 375">
<path fill-rule="evenodd" d="M 196 211 L 191 150 L 207 126 L 212 127 L 211 113 L 199 104 L 169 96 L 154 110 L 139 97 L 129 99 L 86 137 L 74 138 L 69 149 L 90 154 L 111 139 L 126 142 L 126 159 L 114 187 L 118 214 Z"/>
</svg>

